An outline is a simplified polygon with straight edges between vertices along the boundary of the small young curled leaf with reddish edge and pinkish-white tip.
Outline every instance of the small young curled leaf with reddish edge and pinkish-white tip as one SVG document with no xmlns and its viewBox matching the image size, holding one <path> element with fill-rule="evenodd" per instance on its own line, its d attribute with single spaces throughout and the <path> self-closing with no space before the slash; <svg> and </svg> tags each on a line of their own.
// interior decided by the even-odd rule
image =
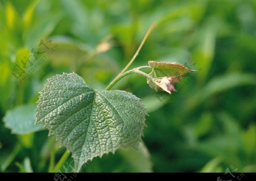
<svg viewBox="0 0 256 181">
<path fill-rule="evenodd" d="M 174 85 L 180 82 L 182 75 L 188 71 L 196 71 L 190 70 L 184 65 L 170 62 L 148 61 L 148 65 L 152 68 L 149 74 L 152 79 L 147 78 L 148 85 L 155 91 L 160 89 L 169 94 L 171 94 L 171 91 L 176 91 Z"/>
</svg>

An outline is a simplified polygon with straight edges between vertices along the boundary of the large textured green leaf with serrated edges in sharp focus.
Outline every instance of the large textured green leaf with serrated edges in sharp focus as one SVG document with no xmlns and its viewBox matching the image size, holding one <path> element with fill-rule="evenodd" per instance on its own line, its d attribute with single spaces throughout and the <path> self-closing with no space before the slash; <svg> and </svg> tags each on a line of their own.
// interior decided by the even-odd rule
<svg viewBox="0 0 256 181">
<path fill-rule="evenodd" d="M 37 123 L 72 152 L 76 171 L 122 146 L 138 147 L 147 112 L 133 94 L 94 90 L 76 73 L 48 79 L 40 94 Z"/>
</svg>

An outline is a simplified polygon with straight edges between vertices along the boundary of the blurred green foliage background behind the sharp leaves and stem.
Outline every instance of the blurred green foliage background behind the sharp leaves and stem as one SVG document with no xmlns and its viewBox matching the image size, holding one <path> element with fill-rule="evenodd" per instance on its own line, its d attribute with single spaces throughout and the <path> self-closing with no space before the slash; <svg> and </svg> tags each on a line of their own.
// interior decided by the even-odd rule
<svg viewBox="0 0 256 181">
<path fill-rule="evenodd" d="M 138 75 L 115 85 L 147 108 L 143 141 L 149 154 L 117 151 L 82 171 L 256 172 L 253 0 L 0 0 L 0 171 L 47 172 L 50 158 L 57 162 L 64 153 L 42 127 L 26 131 L 22 125 L 34 121 L 47 78 L 75 71 L 104 89 L 154 22 L 133 67 L 155 60 L 199 71 L 181 79 L 171 95 L 151 90 Z M 46 54 L 47 47 L 55 49 Z"/>
</svg>

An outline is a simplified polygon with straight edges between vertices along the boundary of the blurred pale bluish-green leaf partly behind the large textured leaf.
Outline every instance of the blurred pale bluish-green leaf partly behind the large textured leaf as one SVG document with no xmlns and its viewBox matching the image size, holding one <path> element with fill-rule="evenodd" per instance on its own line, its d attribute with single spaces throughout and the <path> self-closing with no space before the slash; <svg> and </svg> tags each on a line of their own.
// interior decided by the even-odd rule
<svg viewBox="0 0 256 181">
<path fill-rule="evenodd" d="M 5 127 L 14 134 L 27 134 L 43 130 L 43 125 L 35 125 L 36 105 L 24 105 L 7 111 L 3 121 Z"/>
</svg>

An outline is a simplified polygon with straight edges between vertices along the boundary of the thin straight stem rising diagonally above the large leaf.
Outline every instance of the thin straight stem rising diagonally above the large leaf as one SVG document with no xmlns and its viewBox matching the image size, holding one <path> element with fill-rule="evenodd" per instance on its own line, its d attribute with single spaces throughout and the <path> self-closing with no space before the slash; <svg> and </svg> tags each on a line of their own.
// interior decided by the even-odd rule
<svg viewBox="0 0 256 181">
<path fill-rule="evenodd" d="M 109 83 L 109 85 L 106 87 L 105 90 L 110 90 L 110 89 L 113 87 L 113 85 L 114 85 L 116 82 L 118 82 L 117 79 L 119 80 L 119 77 L 120 77 L 123 73 L 125 73 L 125 71 L 131 66 L 131 64 L 133 64 L 135 58 L 138 56 L 138 54 L 139 54 L 139 52 L 141 51 L 141 49 L 142 49 L 142 47 L 143 47 L 145 41 L 147 40 L 148 36 L 150 35 L 151 31 L 155 28 L 155 26 L 156 26 L 155 23 L 151 25 L 151 27 L 148 29 L 146 35 L 144 36 L 144 38 L 143 38 L 141 44 L 139 45 L 139 48 L 138 48 L 137 51 L 135 52 L 133 58 L 131 58 L 130 62 L 125 66 L 125 68 L 123 68 L 123 70 L 117 75 L 117 77 L 115 77 L 115 78 L 113 79 L 113 81 Z M 115 82 L 115 83 L 114 83 L 114 82 Z"/>
</svg>

